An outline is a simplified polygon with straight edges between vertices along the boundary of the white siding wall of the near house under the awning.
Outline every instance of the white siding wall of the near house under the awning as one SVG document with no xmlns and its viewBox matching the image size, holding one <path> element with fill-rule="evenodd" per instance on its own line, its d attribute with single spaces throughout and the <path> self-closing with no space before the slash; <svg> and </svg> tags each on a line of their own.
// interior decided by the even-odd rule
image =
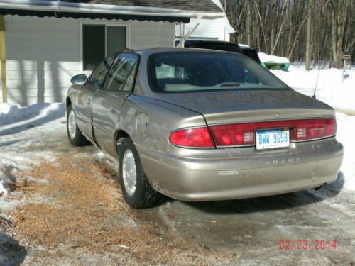
<svg viewBox="0 0 355 266">
<path fill-rule="evenodd" d="M 173 23 L 129 23 L 130 48 L 173 46 Z M 5 16 L 5 27 L 9 103 L 64 101 L 70 78 L 82 72 L 80 20 Z"/>
</svg>

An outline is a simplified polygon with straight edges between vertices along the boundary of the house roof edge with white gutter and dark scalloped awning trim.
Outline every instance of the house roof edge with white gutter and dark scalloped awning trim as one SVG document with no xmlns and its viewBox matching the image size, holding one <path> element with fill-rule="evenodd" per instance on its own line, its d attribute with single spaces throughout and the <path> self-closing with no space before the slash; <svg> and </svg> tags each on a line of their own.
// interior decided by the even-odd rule
<svg viewBox="0 0 355 266">
<path fill-rule="evenodd" d="M 0 14 L 182 23 L 225 16 L 211 0 L 0 0 Z"/>
</svg>

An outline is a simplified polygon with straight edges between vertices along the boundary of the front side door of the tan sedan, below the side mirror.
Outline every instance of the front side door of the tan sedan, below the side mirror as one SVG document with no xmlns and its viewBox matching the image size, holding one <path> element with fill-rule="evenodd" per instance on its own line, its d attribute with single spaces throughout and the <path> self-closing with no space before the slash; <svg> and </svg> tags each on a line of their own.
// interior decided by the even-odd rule
<svg viewBox="0 0 355 266">
<path fill-rule="evenodd" d="M 82 85 L 78 92 L 77 103 L 74 106 L 77 125 L 80 130 L 91 139 L 93 139 L 92 99 L 97 90 L 104 86 L 104 81 L 116 57 L 117 54 L 107 57 L 102 61 L 97 68 L 92 71 L 89 79 L 84 85 Z"/>
</svg>

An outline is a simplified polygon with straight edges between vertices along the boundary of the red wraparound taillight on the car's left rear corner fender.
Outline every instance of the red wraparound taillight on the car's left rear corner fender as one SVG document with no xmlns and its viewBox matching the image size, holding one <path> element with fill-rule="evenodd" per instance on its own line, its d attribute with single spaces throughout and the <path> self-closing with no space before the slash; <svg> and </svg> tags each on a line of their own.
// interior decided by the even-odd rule
<svg viewBox="0 0 355 266">
<path fill-rule="evenodd" d="M 169 140 L 170 143 L 182 147 L 214 148 L 214 143 L 207 127 L 175 131 L 171 133 Z"/>
</svg>

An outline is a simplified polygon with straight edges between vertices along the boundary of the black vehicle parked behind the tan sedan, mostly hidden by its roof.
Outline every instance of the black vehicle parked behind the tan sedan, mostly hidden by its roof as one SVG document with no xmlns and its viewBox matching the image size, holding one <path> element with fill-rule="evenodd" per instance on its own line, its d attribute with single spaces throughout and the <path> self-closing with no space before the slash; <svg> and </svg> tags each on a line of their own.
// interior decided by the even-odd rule
<svg viewBox="0 0 355 266">
<path fill-rule="evenodd" d="M 179 44 L 179 40 L 175 41 L 175 46 Z M 185 48 L 200 48 L 200 49 L 212 49 L 221 50 L 226 52 L 237 52 L 239 54 L 251 57 L 259 64 L 261 64 L 258 57 L 258 51 L 251 47 L 240 47 L 238 43 L 224 42 L 221 40 L 185 40 Z"/>
</svg>

